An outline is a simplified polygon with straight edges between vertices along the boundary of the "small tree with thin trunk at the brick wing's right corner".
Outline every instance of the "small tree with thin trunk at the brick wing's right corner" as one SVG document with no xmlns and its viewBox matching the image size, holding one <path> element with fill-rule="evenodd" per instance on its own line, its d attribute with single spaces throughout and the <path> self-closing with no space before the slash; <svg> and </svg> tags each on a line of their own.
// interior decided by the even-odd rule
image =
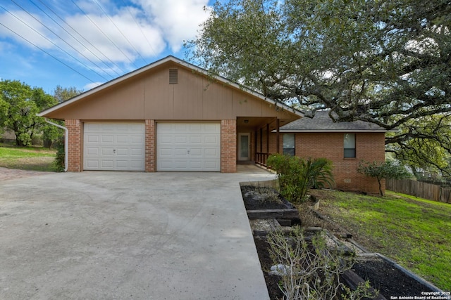
<svg viewBox="0 0 451 300">
<path fill-rule="evenodd" d="M 392 160 L 385 162 L 360 162 L 357 171 L 369 177 L 374 177 L 379 183 L 379 193 L 383 196 L 381 181 L 382 179 L 404 179 L 412 177 L 407 169 L 399 164 L 395 164 Z"/>
</svg>

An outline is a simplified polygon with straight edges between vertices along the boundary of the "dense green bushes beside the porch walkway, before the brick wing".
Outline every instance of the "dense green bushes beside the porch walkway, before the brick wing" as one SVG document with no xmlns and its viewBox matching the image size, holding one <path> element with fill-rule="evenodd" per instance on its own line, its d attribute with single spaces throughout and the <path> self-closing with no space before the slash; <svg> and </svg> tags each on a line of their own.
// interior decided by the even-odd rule
<svg viewBox="0 0 451 300">
<path fill-rule="evenodd" d="M 266 164 L 277 172 L 280 194 L 293 202 L 304 201 L 309 188 L 331 187 L 334 183 L 332 162 L 325 158 L 274 154 Z"/>
</svg>

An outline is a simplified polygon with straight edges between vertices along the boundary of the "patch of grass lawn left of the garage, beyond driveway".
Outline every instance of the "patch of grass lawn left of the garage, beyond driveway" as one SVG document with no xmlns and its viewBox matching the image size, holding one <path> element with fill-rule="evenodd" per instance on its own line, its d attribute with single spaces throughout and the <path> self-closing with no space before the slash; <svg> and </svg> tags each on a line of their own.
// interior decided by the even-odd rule
<svg viewBox="0 0 451 300">
<path fill-rule="evenodd" d="M 56 150 L 0 144 L 0 167 L 30 171 L 56 171 Z"/>
</svg>

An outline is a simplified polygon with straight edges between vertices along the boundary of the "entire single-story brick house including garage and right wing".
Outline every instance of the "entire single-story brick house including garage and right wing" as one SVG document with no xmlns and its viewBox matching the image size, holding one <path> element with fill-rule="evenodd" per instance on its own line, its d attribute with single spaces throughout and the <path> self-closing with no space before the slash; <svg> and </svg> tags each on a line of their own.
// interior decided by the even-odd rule
<svg viewBox="0 0 451 300">
<path fill-rule="evenodd" d="M 233 173 L 237 163 L 264 163 L 268 154 L 285 152 L 327 157 L 336 188 L 378 193 L 377 182 L 356 168 L 361 159 L 383 161 L 385 153 L 380 128 L 335 124 L 323 112 L 304 117 L 173 56 L 39 116 L 65 122 L 67 171 Z"/>
</svg>

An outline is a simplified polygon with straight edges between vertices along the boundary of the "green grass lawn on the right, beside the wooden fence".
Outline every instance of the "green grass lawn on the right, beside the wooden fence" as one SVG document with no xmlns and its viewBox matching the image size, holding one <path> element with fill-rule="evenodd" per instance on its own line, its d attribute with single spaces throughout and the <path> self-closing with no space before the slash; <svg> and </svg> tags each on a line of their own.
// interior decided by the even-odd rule
<svg viewBox="0 0 451 300">
<path fill-rule="evenodd" d="M 433 285 L 451 290 L 451 204 L 387 191 L 384 197 L 313 190 L 321 214 L 370 252 L 394 259 Z"/>
</svg>

